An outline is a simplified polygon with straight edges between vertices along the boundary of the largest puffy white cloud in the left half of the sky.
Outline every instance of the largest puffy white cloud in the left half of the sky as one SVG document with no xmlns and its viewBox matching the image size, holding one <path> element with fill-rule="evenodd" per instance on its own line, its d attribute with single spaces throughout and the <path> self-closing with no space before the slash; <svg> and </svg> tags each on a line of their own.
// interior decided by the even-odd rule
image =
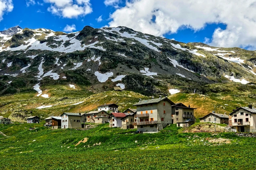
<svg viewBox="0 0 256 170">
<path fill-rule="evenodd" d="M 49 12 L 63 18 L 77 18 L 92 12 L 90 0 L 44 0 L 51 3 Z"/>
</svg>

